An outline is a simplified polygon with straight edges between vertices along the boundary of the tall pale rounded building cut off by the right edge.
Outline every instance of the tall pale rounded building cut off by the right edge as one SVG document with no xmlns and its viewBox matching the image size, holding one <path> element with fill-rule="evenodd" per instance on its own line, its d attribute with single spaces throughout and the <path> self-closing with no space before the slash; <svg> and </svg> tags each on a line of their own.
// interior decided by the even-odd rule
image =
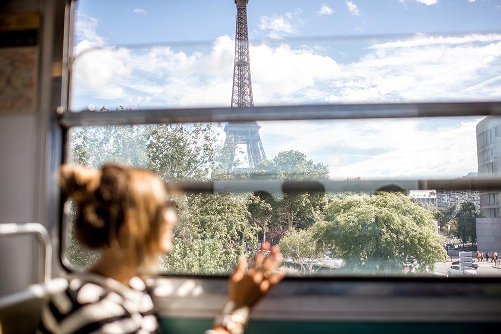
<svg viewBox="0 0 501 334">
<path fill-rule="evenodd" d="M 501 118 L 488 116 L 476 126 L 479 177 L 501 177 Z M 480 192 L 480 213 L 476 219 L 477 249 L 501 252 L 501 189 Z"/>
</svg>

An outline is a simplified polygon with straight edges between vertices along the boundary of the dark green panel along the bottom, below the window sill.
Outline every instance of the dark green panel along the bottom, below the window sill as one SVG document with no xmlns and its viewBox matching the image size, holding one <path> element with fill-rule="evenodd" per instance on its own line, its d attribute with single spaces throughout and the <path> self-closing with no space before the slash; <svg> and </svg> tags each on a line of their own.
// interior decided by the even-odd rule
<svg viewBox="0 0 501 334">
<path fill-rule="evenodd" d="M 211 320 L 159 319 L 164 334 L 200 334 L 210 328 Z M 444 334 L 499 333 L 501 322 L 326 322 L 326 321 L 251 321 L 246 334 L 265 333 L 384 333 Z"/>
</svg>

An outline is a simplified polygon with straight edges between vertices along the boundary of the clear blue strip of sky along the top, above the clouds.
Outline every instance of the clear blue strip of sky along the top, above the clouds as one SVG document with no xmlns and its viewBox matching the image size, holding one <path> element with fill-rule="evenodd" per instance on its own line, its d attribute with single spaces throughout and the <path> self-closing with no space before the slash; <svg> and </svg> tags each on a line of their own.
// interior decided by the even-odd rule
<svg viewBox="0 0 501 334">
<path fill-rule="evenodd" d="M 499 0 L 250 0 L 251 38 L 266 38 L 262 18 L 285 17 L 297 30 L 290 36 L 496 31 L 501 29 Z M 325 14 L 319 13 L 323 6 Z M 235 6 L 231 0 L 129 1 L 79 0 L 77 10 L 99 21 L 99 33 L 110 44 L 212 41 L 231 35 Z M 358 15 L 357 15 L 358 13 Z M 147 33 L 146 33 L 147 32 Z"/>
</svg>

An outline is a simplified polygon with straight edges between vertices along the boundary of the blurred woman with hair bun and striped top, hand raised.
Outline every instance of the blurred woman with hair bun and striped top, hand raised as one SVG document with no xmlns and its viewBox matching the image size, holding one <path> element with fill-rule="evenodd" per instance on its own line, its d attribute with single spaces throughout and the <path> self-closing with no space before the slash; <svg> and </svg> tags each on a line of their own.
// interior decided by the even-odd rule
<svg viewBox="0 0 501 334">
<path fill-rule="evenodd" d="M 72 274 L 68 288 L 43 308 L 42 333 L 157 333 L 158 321 L 146 285 L 138 275 L 151 273 L 158 255 L 172 248 L 177 215 L 162 180 L 154 173 L 106 164 L 101 170 L 64 165 L 63 193 L 77 206 L 76 236 L 99 249 L 96 264 Z M 207 333 L 241 334 L 250 308 L 283 277 L 276 270 L 283 256 L 265 243 L 245 270 L 241 258 L 229 280 L 229 298 Z"/>
</svg>

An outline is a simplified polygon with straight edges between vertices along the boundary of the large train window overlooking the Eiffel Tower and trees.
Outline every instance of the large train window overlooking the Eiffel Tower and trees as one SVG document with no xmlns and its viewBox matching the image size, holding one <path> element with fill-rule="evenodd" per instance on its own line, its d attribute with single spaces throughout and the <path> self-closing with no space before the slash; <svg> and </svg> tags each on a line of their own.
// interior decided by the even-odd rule
<svg viewBox="0 0 501 334">
<path fill-rule="evenodd" d="M 471 256 L 501 247 L 501 120 L 489 116 L 501 99 L 501 23 L 492 4 L 437 3 L 307 11 L 251 1 L 247 40 L 232 2 L 200 12 L 82 2 L 66 161 L 144 167 L 185 190 L 161 259 L 168 274 L 227 274 L 266 240 L 292 276 L 472 275 L 474 265 L 499 275 Z M 383 22 L 390 8 L 395 26 L 357 21 Z M 104 19 L 117 10 L 122 21 Z M 345 19 L 328 21 L 333 13 Z M 86 267 L 98 255 L 76 244 L 65 211 L 65 258 Z"/>
</svg>

